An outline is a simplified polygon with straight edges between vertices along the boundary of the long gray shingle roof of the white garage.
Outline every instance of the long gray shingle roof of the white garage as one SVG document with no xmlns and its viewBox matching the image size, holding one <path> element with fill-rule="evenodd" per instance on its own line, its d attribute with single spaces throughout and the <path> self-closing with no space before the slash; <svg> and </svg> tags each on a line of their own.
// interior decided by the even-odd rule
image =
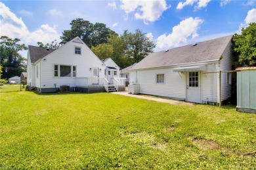
<svg viewBox="0 0 256 170">
<path fill-rule="evenodd" d="M 232 40 L 232 37 L 233 35 L 229 35 L 218 39 L 203 41 L 194 45 L 185 45 L 167 51 L 150 53 L 131 70 L 217 61 L 221 58 L 224 49 L 226 49 Z"/>
</svg>

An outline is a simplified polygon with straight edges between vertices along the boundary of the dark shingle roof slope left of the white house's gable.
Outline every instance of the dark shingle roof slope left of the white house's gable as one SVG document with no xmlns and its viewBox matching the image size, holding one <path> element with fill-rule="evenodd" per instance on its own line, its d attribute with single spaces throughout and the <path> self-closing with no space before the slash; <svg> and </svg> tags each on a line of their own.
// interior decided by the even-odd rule
<svg viewBox="0 0 256 170">
<path fill-rule="evenodd" d="M 47 56 L 54 51 L 54 49 L 47 50 L 45 47 L 35 47 L 32 45 L 28 46 L 28 50 L 30 51 L 31 63 L 35 63 L 37 60 Z"/>
</svg>

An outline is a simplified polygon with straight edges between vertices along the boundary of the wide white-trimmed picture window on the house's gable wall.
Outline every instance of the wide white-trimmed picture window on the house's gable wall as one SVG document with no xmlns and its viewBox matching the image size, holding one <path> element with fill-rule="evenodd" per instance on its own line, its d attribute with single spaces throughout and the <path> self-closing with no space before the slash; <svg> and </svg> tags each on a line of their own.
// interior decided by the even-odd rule
<svg viewBox="0 0 256 170">
<path fill-rule="evenodd" d="M 54 77 L 75 77 L 76 66 L 54 64 Z"/>
</svg>

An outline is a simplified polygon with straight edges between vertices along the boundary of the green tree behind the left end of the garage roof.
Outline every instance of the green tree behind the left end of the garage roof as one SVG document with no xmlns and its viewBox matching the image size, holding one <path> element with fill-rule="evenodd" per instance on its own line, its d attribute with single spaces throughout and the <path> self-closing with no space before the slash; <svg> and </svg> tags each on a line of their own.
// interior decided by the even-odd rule
<svg viewBox="0 0 256 170">
<path fill-rule="evenodd" d="M 133 62 L 140 62 L 149 53 L 153 52 L 156 45 L 146 37 L 146 33 L 136 30 L 135 33 L 125 30 L 121 38 L 125 42 L 126 51 L 125 55 L 131 58 Z"/>
</svg>

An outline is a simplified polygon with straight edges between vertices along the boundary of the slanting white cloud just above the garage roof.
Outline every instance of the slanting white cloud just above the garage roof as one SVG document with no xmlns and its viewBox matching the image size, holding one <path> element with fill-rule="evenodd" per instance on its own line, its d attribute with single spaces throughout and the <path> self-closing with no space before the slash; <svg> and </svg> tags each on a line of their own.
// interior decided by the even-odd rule
<svg viewBox="0 0 256 170">
<path fill-rule="evenodd" d="M 194 39 L 198 36 L 198 29 L 200 28 L 203 20 L 200 18 L 186 18 L 182 20 L 168 35 L 164 33 L 160 35 L 156 42 L 157 48 L 171 48 L 178 47 L 185 44 L 188 38 Z"/>
</svg>

